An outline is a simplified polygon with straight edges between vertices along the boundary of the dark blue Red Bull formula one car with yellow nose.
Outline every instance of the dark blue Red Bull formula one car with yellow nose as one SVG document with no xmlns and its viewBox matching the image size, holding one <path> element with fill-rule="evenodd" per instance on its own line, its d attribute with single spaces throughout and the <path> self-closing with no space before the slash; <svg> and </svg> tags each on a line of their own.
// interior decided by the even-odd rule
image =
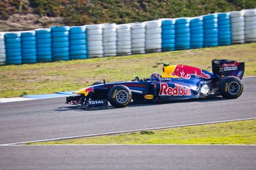
<svg viewBox="0 0 256 170">
<path fill-rule="evenodd" d="M 234 60 L 212 60 L 212 71 L 186 65 L 163 63 L 163 73 L 153 73 L 150 78 L 114 83 L 96 82 L 67 97 L 69 104 L 84 108 L 108 107 L 108 101 L 115 108 L 125 108 L 130 103 L 151 103 L 195 99 L 222 95 L 235 99 L 243 93 L 241 81 L 245 62 Z"/>
</svg>

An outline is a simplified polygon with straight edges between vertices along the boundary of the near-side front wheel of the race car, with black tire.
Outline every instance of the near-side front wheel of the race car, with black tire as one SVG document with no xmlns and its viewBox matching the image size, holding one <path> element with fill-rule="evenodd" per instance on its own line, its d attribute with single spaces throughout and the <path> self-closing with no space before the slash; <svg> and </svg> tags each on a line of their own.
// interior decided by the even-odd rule
<svg viewBox="0 0 256 170">
<path fill-rule="evenodd" d="M 115 85 L 108 91 L 108 101 L 115 108 L 125 108 L 131 98 L 131 91 L 125 85 Z"/>
</svg>

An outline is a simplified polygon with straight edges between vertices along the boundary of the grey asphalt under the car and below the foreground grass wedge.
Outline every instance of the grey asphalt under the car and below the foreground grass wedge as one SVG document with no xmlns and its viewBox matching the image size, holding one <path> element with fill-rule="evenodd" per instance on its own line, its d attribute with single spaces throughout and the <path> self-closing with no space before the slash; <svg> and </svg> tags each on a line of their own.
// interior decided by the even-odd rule
<svg viewBox="0 0 256 170">
<path fill-rule="evenodd" d="M 65 98 L 0 103 L 0 144 L 256 118 L 256 77 L 238 99 L 82 110 Z M 0 169 L 256 169 L 256 146 L 0 146 Z"/>
</svg>

